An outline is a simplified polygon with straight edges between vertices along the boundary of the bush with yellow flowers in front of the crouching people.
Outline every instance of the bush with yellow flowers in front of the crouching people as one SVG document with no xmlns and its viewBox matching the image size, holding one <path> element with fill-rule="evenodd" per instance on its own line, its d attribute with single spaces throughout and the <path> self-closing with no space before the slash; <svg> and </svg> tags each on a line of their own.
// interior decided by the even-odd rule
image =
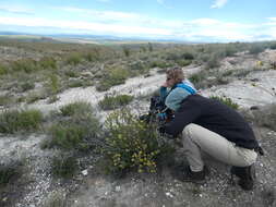
<svg viewBox="0 0 276 207">
<path fill-rule="evenodd" d="M 156 172 L 157 160 L 165 154 L 159 147 L 155 126 L 142 122 L 129 110 L 112 112 L 105 122 L 107 135 L 101 153 L 107 173 L 128 170 Z"/>
</svg>

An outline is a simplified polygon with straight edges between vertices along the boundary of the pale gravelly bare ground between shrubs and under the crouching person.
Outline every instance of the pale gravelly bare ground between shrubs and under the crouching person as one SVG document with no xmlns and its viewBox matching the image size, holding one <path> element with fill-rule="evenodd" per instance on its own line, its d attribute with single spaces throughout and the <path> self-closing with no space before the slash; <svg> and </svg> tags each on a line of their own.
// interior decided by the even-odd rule
<svg viewBox="0 0 276 207">
<path fill-rule="evenodd" d="M 200 68 L 189 68 L 187 73 L 194 73 Z M 202 95 L 225 95 L 241 108 L 275 102 L 276 71 L 254 72 L 244 80 L 238 80 L 223 86 L 213 86 L 202 90 Z M 108 93 L 131 94 L 135 97 L 151 94 L 165 80 L 164 74 L 154 72 L 149 77 L 134 77 L 124 85 L 115 86 Z M 253 81 L 252 81 L 253 80 Z M 40 100 L 28 108 L 37 108 L 45 113 L 76 101 L 84 100 L 97 105 L 107 93 L 98 93 L 95 87 L 72 88 L 59 95 L 59 100 L 48 105 Z M 134 100 L 137 110 L 147 110 L 146 101 Z M 26 106 L 24 106 L 26 107 Z M 168 206 L 206 206 L 206 207 L 275 207 L 276 206 L 276 132 L 267 129 L 254 129 L 266 153 L 256 162 L 257 181 L 252 192 L 244 192 L 230 182 L 229 167 L 206 156 L 211 173 L 204 185 L 179 181 L 183 154 L 181 149 L 175 156 L 176 163 L 165 166 L 157 174 L 127 174 L 123 179 L 113 179 L 100 173 L 96 166 L 87 166 L 70 182 L 52 180 L 49 172 L 49 159 L 56 154 L 41 150 L 40 142 L 45 135 L 4 136 L 0 135 L 0 162 L 10 159 L 26 160 L 28 174 L 24 186 L 16 185 L 17 194 L 0 195 L 1 206 L 40 207 L 56 192 L 60 192 L 65 206 L 72 207 L 168 207 Z M 92 158 L 93 159 L 93 158 Z M 86 171 L 87 170 L 87 174 Z M 85 173 L 84 173 L 85 172 Z M 14 186 L 15 187 L 15 186 Z M 20 193 L 19 193 L 20 192 Z"/>
</svg>

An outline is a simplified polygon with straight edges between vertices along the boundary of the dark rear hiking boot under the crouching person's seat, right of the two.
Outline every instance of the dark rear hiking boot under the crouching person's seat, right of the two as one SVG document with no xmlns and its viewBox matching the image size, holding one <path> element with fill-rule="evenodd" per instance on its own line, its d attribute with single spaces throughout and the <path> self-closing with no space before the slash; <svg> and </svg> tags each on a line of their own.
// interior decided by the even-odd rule
<svg viewBox="0 0 276 207">
<path fill-rule="evenodd" d="M 256 178 L 254 165 L 249 167 L 231 167 L 231 174 L 235 174 L 240 179 L 238 184 L 241 188 L 244 191 L 253 190 L 254 180 Z"/>
</svg>

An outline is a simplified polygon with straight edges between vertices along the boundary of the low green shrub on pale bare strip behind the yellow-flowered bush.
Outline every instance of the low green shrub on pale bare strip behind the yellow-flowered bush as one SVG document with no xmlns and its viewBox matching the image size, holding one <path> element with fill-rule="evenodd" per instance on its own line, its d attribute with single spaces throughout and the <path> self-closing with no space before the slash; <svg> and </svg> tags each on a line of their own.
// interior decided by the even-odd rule
<svg viewBox="0 0 276 207">
<path fill-rule="evenodd" d="M 99 101 L 99 107 L 103 110 L 112 110 L 119 107 L 127 106 L 133 100 L 133 96 L 129 95 L 118 95 L 118 96 L 108 96 L 106 95 L 103 100 Z"/>
</svg>

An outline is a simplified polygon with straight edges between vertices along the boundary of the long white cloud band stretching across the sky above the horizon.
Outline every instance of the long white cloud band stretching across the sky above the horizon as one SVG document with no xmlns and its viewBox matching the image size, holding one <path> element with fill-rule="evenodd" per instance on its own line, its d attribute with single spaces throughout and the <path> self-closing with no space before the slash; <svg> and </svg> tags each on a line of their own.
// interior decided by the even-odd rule
<svg viewBox="0 0 276 207">
<path fill-rule="evenodd" d="M 123 37 L 151 37 L 191 41 L 252 41 L 276 38 L 276 17 L 267 17 L 260 24 L 242 24 L 216 19 L 172 21 L 140 13 L 99 11 L 80 8 L 56 8 L 75 16 L 79 21 L 46 17 L 0 16 L 0 27 L 15 26 L 74 34 L 116 35 Z M 82 19 L 80 19 L 82 17 Z M 83 20 L 83 21 L 81 21 Z"/>
</svg>

